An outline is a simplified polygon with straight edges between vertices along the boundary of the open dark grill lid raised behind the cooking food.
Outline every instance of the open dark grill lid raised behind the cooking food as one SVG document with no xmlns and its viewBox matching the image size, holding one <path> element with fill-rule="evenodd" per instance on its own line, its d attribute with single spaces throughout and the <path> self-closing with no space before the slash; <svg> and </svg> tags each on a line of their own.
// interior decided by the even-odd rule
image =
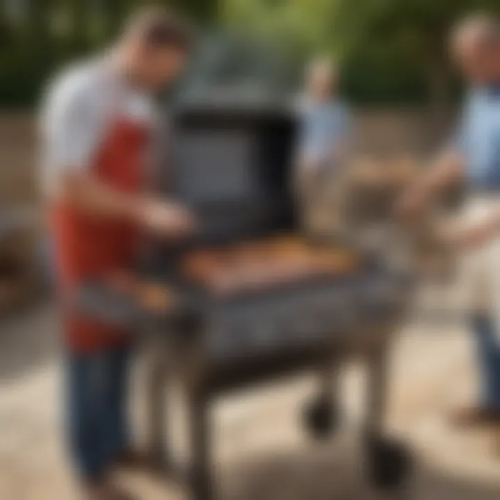
<svg viewBox="0 0 500 500">
<path fill-rule="evenodd" d="M 176 110 L 165 167 L 169 196 L 197 218 L 190 243 L 233 242 L 295 227 L 296 128 L 285 107 L 206 102 Z"/>
</svg>

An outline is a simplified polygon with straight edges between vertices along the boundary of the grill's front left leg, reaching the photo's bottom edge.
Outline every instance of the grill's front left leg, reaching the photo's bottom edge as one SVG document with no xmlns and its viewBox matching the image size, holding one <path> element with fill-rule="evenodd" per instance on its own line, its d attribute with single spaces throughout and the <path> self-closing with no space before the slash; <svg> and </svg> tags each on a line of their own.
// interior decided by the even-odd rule
<svg viewBox="0 0 500 500">
<path fill-rule="evenodd" d="M 210 464 L 210 422 L 208 394 L 190 395 L 191 500 L 213 500 L 214 483 Z"/>
</svg>

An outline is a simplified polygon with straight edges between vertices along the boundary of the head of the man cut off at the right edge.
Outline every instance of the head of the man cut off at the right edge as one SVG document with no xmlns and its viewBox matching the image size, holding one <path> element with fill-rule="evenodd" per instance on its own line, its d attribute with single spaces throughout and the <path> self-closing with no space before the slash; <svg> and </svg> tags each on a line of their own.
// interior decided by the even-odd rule
<svg viewBox="0 0 500 500">
<path fill-rule="evenodd" d="M 500 24 L 494 17 L 462 19 L 451 33 L 451 51 L 460 70 L 473 83 L 500 80 Z"/>
</svg>

